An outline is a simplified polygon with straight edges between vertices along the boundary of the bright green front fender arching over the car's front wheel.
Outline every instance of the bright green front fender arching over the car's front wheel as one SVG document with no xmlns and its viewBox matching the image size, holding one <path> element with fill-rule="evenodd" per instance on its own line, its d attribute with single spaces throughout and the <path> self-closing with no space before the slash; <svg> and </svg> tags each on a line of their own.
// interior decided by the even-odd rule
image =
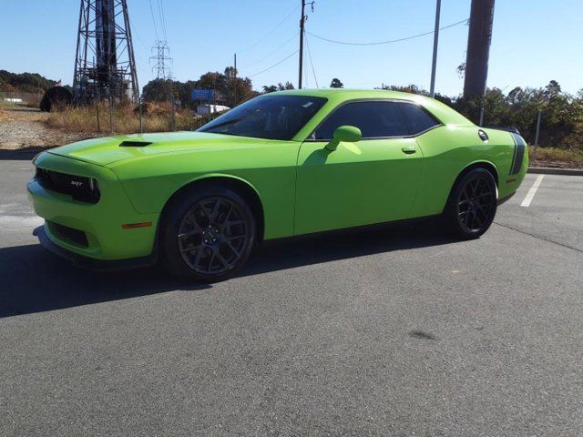
<svg viewBox="0 0 583 437">
<path fill-rule="evenodd" d="M 134 208 L 162 211 L 180 188 L 204 178 L 232 178 L 245 183 L 260 198 L 265 239 L 293 233 L 295 166 L 298 143 L 279 142 L 264 147 L 177 152 L 126 160 L 111 169 Z"/>
</svg>

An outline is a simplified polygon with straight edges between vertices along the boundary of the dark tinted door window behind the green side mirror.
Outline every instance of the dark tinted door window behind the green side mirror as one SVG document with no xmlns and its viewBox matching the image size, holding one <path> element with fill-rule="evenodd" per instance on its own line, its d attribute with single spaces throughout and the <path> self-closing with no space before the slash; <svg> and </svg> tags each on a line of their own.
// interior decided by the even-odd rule
<svg viewBox="0 0 583 437">
<path fill-rule="evenodd" d="M 332 112 L 314 131 L 314 139 L 331 140 L 334 130 L 344 125 L 355 126 L 363 138 L 405 137 L 409 129 L 396 102 L 347 103 Z"/>
</svg>

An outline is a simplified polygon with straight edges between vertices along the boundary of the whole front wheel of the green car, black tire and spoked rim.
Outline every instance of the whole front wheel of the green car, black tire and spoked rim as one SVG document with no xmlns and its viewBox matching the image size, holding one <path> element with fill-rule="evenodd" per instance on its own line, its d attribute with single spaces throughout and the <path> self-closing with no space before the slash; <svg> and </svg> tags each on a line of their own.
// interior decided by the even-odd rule
<svg viewBox="0 0 583 437">
<path fill-rule="evenodd" d="M 159 254 L 169 272 L 196 282 L 231 278 L 255 242 L 251 208 L 232 188 L 203 186 L 170 201 L 160 220 Z"/>
</svg>

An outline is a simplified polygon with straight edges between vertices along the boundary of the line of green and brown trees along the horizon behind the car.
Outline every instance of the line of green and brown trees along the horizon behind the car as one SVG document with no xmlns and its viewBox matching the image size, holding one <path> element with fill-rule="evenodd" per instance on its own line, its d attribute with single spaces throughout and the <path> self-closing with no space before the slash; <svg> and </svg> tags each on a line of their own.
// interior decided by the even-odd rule
<svg viewBox="0 0 583 437">
<path fill-rule="evenodd" d="M 47 79 L 37 73 L 15 74 L 0 70 L 0 92 L 37 93 L 58 85 L 56 80 Z M 70 86 L 66 86 L 70 89 Z M 343 82 L 332 78 L 331 88 L 342 88 Z M 261 91 L 252 88 L 251 79 L 240 77 L 232 66 L 222 73 L 207 72 L 198 80 L 180 82 L 170 79 L 154 79 L 143 87 L 145 101 L 179 100 L 181 107 L 196 107 L 200 102 L 192 99 L 192 89 L 215 90 L 213 103 L 236 107 L 240 103 L 260 94 L 293 89 L 292 82 L 265 85 Z M 419 86 L 384 86 L 384 89 L 404 91 L 428 96 L 429 93 Z M 537 116 L 541 113 L 539 144 L 541 147 L 561 147 L 583 149 L 583 89 L 572 95 L 561 89 L 555 80 L 547 86 L 517 86 L 506 94 L 497 87 L 488 88 L 481 98 L 448 97 L 436 94 L 435 98 L 453 107 L 475 123 L 484 108 L 483 125 L 492 127 L 517 127 L 529 143 L 534 143 Z"/>
</svg>

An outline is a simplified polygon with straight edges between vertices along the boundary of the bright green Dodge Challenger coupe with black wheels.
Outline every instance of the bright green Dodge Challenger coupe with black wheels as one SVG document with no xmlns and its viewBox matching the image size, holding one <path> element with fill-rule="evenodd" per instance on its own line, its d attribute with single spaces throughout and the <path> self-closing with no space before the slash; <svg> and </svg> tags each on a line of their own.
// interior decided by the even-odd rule
<svg viewBox="0 0 583 437">
<path fill-rule="evenodd" d="M 38 155 L 28 193 L 47 249 L 78 265 L 158 259 L 232 276 L 261 240 L 439 216 L 486 232 L 527 172 L 515 132 L 427 97 L 296 90 L 253 98 L 196 132 L 88 139 Z"/>
</svg>

